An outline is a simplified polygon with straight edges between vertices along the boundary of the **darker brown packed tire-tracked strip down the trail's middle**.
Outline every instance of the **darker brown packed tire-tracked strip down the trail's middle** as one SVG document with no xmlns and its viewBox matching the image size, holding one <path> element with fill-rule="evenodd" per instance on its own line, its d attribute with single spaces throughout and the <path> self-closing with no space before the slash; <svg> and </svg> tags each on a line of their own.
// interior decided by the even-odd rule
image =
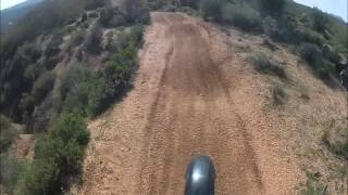
<svg viewBox="0 0 348 195">
<path fill-rule="evenodd" d="M 225 180 L 217 183 L 217 188 L 221 186 L 222 194 L 261 192 L 260 174 L 256 159 L 250 156 L 253 152 L 248 144 L 246 130 L 240 126 L 243 121 L 240 116 L 233 112 L 228 87 L 210 56 L 208 31 L 198 22 L 183 15 L 159 14 L 154 17 L 164 17 L 161 21 L 167 25 L 165 35 L 172 49 L 169 51 L 167 55 L 171 57 L 166 58 L 159 92 L 148 119 L 139 193 L 183 192 L 185 167 L 192 155 L 211 155 L 219 171 L 220 161 L 227 165 L 229 158 L 237 156 L 226 157 L 229 153 L 226 150 L 233 150 L 236 144 L 240 147 L 234 153 L 243 157 L 235 160 L 238 166 L 229 169 L 226 176 L 234 178 L 238 184 L 234 186 L 235 190 L 231 190 L 232 183 Z M 216 102 L 223 102 L 220 106 L 227 109 L 219 110 Z M 202 107 L 197 107 L 196 103 Z M 220 117 L 211 118 L 216 115 Z M 226 120 L 225 115 L 233 115 L 233 122 Z M 228 126 L 233 128 L 229 129 Z M 233 129 L 235 136 L 239 136 L 236 143 L 223 139 L 226 134 L 228 138 L 228 131 Z M 178 168 L 181 171 L 176 170 Z M 240 168 L 240 171 L 237 170 Z M 240 187 L 244 191 L 240 191 Z"/>
</svg>

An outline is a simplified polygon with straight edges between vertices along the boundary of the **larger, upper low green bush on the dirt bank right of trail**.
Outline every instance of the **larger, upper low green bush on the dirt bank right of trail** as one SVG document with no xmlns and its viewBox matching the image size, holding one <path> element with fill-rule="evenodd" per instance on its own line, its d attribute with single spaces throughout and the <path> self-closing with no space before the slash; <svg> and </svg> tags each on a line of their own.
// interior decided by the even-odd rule
<svg viewBox="0 0 348 195">
<path fill-rule="evenodd" d="M 256 53 L 250 57 L 250 60 L 257 72 L 287 79 L 284 68 L 264 53 Z"/>
</svg>

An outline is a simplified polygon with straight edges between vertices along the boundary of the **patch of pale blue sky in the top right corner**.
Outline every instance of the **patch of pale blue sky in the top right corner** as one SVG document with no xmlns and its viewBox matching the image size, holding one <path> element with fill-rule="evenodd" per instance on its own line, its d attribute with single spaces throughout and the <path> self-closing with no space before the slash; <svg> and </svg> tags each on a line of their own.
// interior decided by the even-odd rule
<svg viewBox="0 0 348 195">
<path fill-rule="evenodd" d="M 340 16 L 346 22 L 348 11 L 348 0 L 295 0 L 298 3 L 306 4 L 308 6 L 316 6 L 320 10 Z"/>
</svg>

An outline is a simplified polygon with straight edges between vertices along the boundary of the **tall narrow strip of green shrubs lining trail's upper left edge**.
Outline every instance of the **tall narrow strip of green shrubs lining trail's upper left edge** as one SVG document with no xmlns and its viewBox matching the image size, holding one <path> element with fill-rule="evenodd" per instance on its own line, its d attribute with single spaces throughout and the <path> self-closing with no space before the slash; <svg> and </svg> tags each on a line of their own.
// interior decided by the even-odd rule
<svg viewBox="0 0 348 195">
<path fill-rule="evenodd" d="M 88 81 L 88 113 L 92 116 L 108 108 L 132 86 L 142 31 L 144 27 L 140 25 L 119 35 L 115 53 L 105 63 L 105 67 Z"/>
</svg>

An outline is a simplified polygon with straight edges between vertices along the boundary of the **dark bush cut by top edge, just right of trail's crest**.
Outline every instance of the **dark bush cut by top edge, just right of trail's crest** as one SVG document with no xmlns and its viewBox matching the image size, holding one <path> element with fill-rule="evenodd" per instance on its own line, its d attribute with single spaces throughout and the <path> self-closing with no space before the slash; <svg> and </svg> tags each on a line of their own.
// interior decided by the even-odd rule
<svg viewBox="0 0 348 195">
<path fill-rule="evenodd" d="M 204 20 L 222 21 L 223 0 L 201 0 L 200 12 Z"/>
</svg>

